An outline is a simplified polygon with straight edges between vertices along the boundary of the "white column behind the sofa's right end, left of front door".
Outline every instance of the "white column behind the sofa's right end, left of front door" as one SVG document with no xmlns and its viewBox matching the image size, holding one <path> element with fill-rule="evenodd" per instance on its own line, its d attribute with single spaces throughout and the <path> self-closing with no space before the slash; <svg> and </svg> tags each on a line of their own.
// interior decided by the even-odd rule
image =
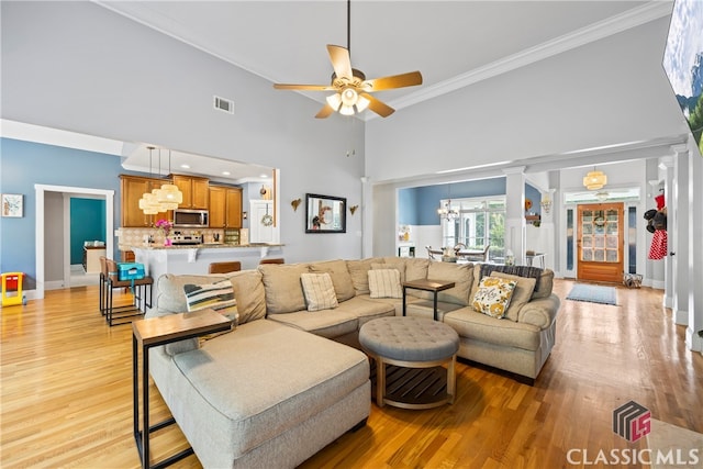
<svg viewBox="0 0 703 469">
<path fill-rule="evenodd" d="M 513 252 L 515 265 L 525 265 L 525 167 L 505 168 L 505 249 Z"/>
</svg>

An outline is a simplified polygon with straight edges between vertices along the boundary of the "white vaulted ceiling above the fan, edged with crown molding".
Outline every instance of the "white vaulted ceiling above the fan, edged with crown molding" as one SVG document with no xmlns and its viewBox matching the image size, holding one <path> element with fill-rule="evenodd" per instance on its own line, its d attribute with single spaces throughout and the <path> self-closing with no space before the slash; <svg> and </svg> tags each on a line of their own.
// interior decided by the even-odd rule
<svg viewBox="0 0 703 469">
<path fill-rule="evenodd" d="M 325 45 L 347 45 L 345 0 L 98 3 L 271 82 L 327 85 L 333 70 Z M 671 5 L 355 0 L 352 64 L 367 78 L 420 70 L 422 86 L 376 94 L 401 109 L 667 15 Z M 324 92 L 308 96 L 324 102 Z"/>
</svg>

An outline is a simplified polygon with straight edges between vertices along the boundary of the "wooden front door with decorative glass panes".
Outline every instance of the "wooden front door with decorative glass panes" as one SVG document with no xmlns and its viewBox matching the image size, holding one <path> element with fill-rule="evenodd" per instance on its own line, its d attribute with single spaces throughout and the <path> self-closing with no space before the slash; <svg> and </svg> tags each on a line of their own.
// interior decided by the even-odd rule
<svg viewBox="0 0 703 469">
<path fill-rule="evenodd" d="M 617 283 L 623 279 L 624 204 L 580 204 L 577 212 L 577 278 Z"/>
</svg>

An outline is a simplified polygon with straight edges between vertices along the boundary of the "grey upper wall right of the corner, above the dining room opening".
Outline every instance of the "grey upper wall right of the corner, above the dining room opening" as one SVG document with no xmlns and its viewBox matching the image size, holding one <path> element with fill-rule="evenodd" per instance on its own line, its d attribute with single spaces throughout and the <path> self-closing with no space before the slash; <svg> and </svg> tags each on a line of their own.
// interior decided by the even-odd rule
<svg viewBox="0 0 703 469">
<path fill-rule="evenodd" d="M 367 176 L 384 181 L 684 134 L 661 66 L 667 31 L 668 19 L 656 20 L 372 120 Z"/>
</svg>

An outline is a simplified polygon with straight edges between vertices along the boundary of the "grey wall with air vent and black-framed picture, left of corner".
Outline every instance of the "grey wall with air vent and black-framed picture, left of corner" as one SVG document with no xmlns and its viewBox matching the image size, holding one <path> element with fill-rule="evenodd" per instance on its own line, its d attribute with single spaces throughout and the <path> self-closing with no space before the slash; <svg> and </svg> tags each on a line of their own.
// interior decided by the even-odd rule
<svg viewBox="0 0 703 469">
<path fill-rule="evenodd" d="M 361 123 L 315 120 L 319 103 L 91 2 L 0 8 L 3 119 L 280 168 L 287 260 L 360 256 L 359 212 L 346 234 L 306 235 L 290 201 L 359 203 Z M 213 110 L 213 94 L 233 99 L 235 114 Z"/>
</svg>

